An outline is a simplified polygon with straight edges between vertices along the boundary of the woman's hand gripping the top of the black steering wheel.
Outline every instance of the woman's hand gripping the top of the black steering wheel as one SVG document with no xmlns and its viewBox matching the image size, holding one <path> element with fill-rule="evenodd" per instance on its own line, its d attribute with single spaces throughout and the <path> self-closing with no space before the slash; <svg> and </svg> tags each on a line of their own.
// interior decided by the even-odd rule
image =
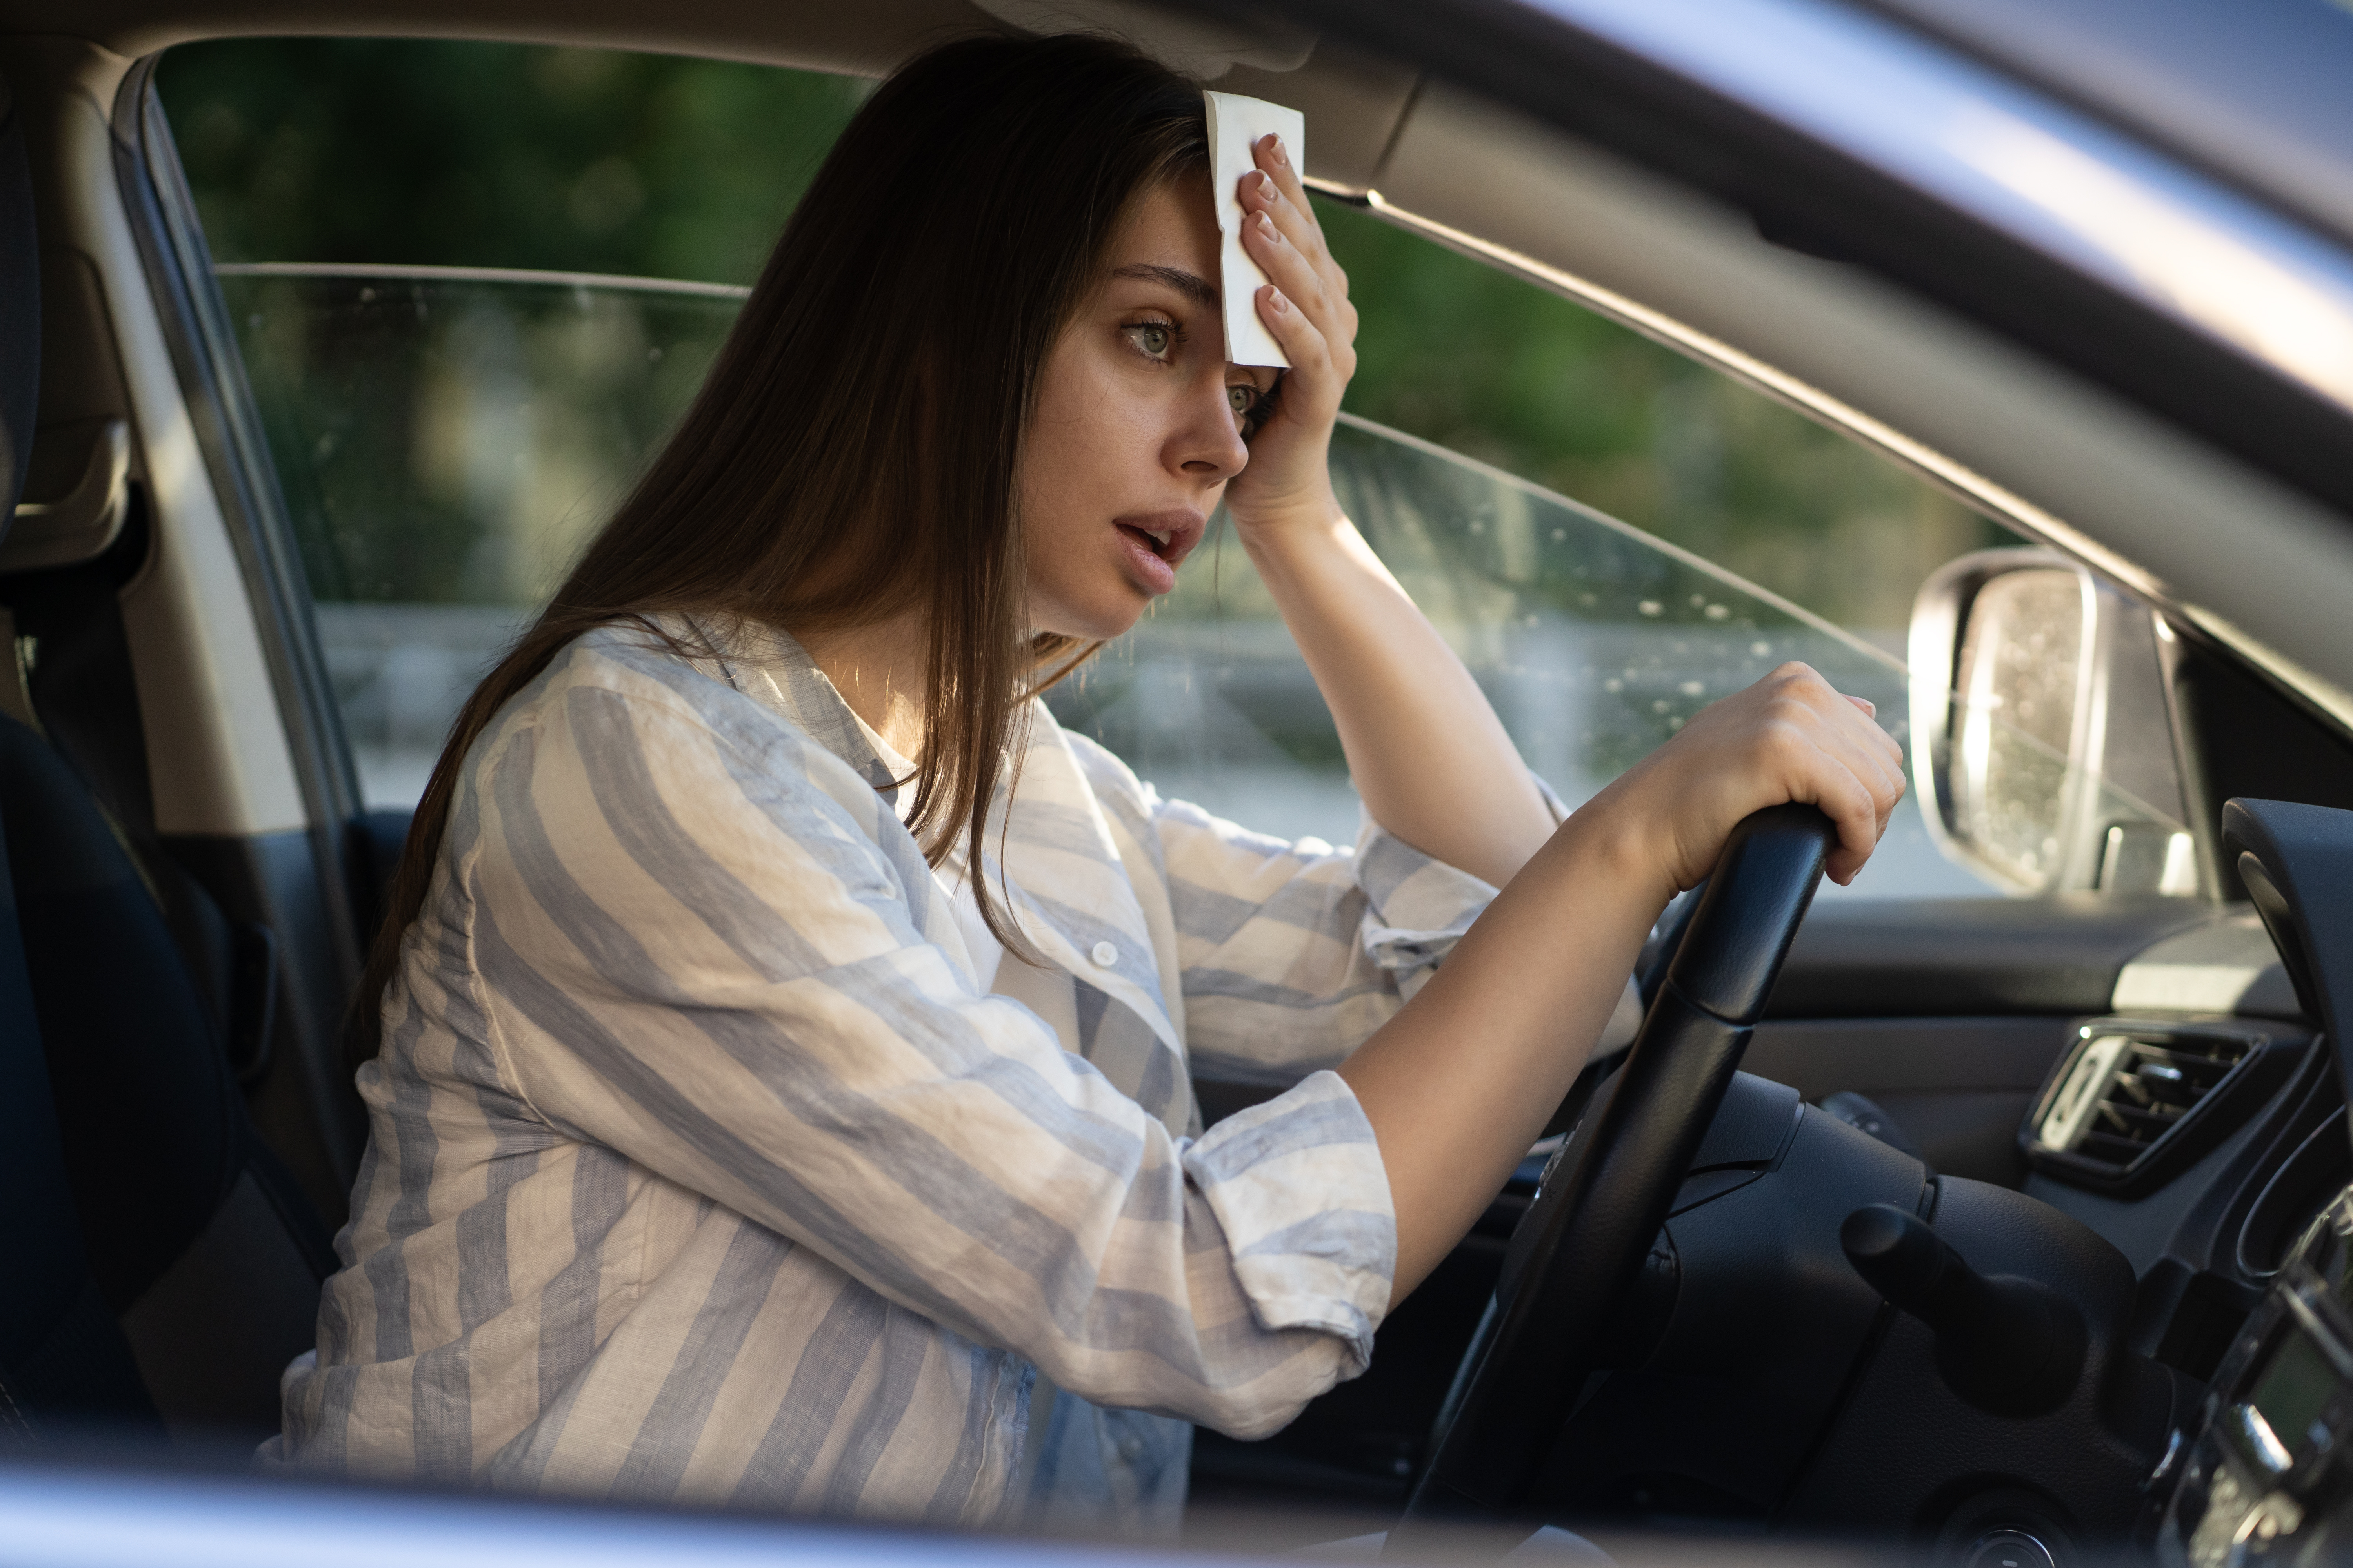
<svg viewBox="0 0 2353 1568">
<path fill-rule="evenodd" d="M 1793 661 L 1701 708 L 1593 806 L 1624 816 L 1621 830 L 1631 835 L 1624 842 L 1673 884 L 1666 896 L 1706 877 L 1751 811 L 1784 802 L 1821 806 L 1838 825 L 1824 870 L 1845 886 L 1904 799 L 1904 748 L 1873 722 L 1875 712 Z"/>
</svg>

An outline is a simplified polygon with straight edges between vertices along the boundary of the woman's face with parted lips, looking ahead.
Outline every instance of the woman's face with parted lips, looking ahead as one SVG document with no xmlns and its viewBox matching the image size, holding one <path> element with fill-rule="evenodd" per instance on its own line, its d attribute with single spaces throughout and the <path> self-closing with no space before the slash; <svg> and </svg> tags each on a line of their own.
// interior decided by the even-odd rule
<svg viewBox="0 0 2353 1568">
<path fill-rule="evenodd" d="M 1155 188 L 1038 386 L 1021 444 L 1031 630 L 1118 637 L 1176 585 L 1273 381 L 1226 364 L 1207 176 Z"/>
</svg>

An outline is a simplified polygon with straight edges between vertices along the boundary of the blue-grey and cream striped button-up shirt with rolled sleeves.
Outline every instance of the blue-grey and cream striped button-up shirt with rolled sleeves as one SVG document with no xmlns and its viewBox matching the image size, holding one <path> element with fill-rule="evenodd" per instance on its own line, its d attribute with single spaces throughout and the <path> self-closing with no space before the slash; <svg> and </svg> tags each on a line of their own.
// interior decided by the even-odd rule
<svg viewBox="0 0 2353 1568">
<path fill-rule="evenodd" d="M 798 644 L 558 654 L 466 755 L 275 1458 L 976 1526 L 1092 1446 L 1165 1512 L 1179 1422 L 1362 1373 L 1395 1215 L 1329 1067 L 1494 889 L 1026 717 L 981 875 L 1047 969 L 991 992 Z M 1191 1072 L 1289 1088 L 1202 1131 Z"/>
</svg>

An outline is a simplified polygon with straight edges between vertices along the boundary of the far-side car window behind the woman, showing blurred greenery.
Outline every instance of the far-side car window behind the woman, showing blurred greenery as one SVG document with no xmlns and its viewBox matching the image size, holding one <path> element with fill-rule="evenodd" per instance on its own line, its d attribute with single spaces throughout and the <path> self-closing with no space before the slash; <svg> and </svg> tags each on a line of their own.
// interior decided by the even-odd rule
<svg viewBox="0 0 2353 1568">
<path fill-rule="evenodd" d="M 362 792 L 414 804 L 473 679 L 692 397 L 861 87 L 569 49 L 240 40 L 174 52 L 160 89 Z M 372 167 L 428 110 L 440 162 L 407 148 Z M 680 143 L 758 143 L 760 174 L 713 183 Z M 369 181 L 379 207 L 435 216 L 369 219 L 353 195 Z M 306 195 L 325 209 L 308 226 Z M 2014 536 L 1537 284 L 1337 202 L 1322 214 L 1365 320 L 1341 501 L 1569 804 L 1786 658 L 1906 738 L 1913 592 Z M 1049 701 L 1165 795 L 1285 837 L 1355 835 L 1332 719 L 1226 531 Z M 1988 891 L 1913 795 L 1845 896 Z"/>
</svg>

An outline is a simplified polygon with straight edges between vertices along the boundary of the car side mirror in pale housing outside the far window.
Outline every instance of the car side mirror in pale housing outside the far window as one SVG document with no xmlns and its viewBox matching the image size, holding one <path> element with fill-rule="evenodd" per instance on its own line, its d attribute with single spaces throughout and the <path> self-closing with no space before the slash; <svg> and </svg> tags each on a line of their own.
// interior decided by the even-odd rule
<svg viewBox="0 0 2353 1568">
<path fill-rule="evenodd" d="M 1979 550 L 1920 585 L 1911 733 L 1946 856 L 2021 893 L 2200 891 L 2162 628 L 2057 550 Z"/>
</svg>

